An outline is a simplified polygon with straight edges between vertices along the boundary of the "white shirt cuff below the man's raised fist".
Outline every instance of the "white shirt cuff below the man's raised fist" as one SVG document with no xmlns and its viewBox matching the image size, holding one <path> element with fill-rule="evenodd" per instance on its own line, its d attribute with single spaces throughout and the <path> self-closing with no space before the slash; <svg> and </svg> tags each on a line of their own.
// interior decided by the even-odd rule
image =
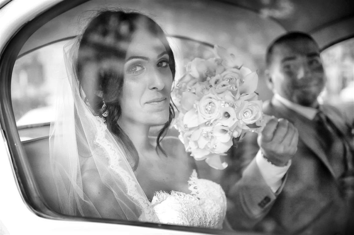
<svg viewBox="0 0 354 235">
<path fill-rule="evenodd" d="M 270 187 L 270 189 L 272 189 L 273 193 L 275 193 L 281 186 L 281 179 L 289 169 L 291 160 L 289 160 L 289 162 L 284 167 L 278 167 L 268 162 L 267 159 L 263 157 L 261 150 L 258 150 L 256 155 L 256 163 L 265 182 Z"/>
</svg>

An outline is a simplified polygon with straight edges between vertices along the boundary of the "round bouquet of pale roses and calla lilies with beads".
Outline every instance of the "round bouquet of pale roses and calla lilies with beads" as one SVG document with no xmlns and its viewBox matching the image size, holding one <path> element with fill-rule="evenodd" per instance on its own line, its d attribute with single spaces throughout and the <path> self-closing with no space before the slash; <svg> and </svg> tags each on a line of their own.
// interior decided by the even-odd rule
<svg viewBox="0 0 354 235">
<path fill-rule="evenodd" d="M 172 92 L 179 112 L 174 126 L 191 156 L 215 169 L 225 169 L 227 163 L 221 156 L 226 155 L 233 138 L 240 139 L 261 125 L 262 101 L 255 92 L 257 72 L 237 64 L 225 48 L 215 46 L 214 52 L 215 58 L 195 58 L 187 64 Z"/>
</svg>

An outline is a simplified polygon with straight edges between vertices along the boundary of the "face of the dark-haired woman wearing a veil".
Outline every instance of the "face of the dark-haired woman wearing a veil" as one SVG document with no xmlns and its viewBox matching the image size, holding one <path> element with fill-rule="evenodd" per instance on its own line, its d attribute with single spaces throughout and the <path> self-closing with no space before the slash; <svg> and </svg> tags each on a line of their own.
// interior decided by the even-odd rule
<svg viewBox="0 0 354 235">
<path fill-rule="evenodd" d="M 121 119 L 161 125 L 169 119 L 172 72 L 164 45 L 146 30 L 138 30 L 127 48 Z"/>
</svg>

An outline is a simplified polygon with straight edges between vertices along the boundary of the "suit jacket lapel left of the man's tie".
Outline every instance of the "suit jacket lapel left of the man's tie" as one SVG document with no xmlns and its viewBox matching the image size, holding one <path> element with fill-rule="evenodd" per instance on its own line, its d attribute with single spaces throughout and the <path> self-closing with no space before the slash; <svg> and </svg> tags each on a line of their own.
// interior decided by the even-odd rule
<svg viewBox="0 0 354 235">
<path fill-rule="evenodd" d="M 321 162 L 329 169 L 333 177 L 335 177 L 334 171 L 331 167 L 330 162 L 326 156 L 326 153 L 322 149 L 319 141 L 319 136 L 316 133 L 313 125 L 306 120 L 305 117 L 299 115 L 295 111 L 285 107 L 276 99 L 272 99 L 272 104 L 279 110 L 281 116 L 293 123 L 293 125 L 298 129 L 299 138 L 303 143 L 311 149 L 316 156 L 321 160 Z"/>
</svg>

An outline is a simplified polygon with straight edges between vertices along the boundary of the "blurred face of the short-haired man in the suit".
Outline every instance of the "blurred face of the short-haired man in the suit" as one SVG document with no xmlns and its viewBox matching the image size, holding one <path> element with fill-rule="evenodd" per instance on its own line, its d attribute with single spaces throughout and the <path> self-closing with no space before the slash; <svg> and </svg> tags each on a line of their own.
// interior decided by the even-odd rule
<svg viewBox="0 0 354 235">
<path fill-rule="evenodd" d="M 317 44 L 299 38 L 275 45 L 268 79 L 272 90 L 282 97 L 303 106 L 316 106 L 325 85 Z"/>
</svg>

